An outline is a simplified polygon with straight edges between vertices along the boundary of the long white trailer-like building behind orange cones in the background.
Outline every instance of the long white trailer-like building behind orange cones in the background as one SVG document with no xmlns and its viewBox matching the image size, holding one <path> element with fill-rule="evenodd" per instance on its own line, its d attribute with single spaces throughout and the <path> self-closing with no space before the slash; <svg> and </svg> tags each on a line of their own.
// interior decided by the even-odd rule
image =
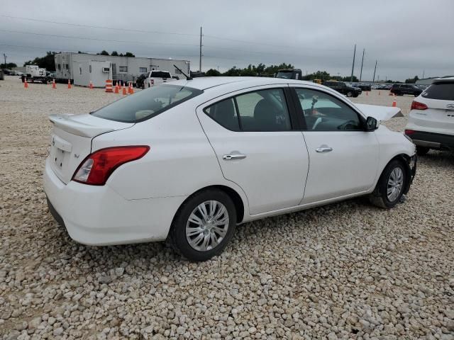
<svg viewBox="0 0 454 340">
<path fill-rule="evenodd" d="M 104 87 L 107 79 L 135 81 L 140 75 L 153 69 L 168 71 L 172 76 L 184 77 L 174 65 L 189 75 L 189 60 L 159 59 L 143 57 L 116 57 L 89 53 L 57 53 L 55 55 L 56 79 L 71 79 L 74 85 Z"/>
</svg>

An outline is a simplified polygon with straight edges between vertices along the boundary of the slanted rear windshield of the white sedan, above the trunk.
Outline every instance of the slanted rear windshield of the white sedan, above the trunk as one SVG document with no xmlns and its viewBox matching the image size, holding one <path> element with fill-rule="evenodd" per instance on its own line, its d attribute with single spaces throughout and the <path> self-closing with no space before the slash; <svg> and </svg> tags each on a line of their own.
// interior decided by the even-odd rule
<svg viewBox="0 0 454 340">
<path fill-rule="evenodd" d="M 155 117 L 203 91 L 187 86 L 162 85 L 139 91 L 94 111 L 92 115 L 123 123 L 138 123 Z"/>
</svg>

